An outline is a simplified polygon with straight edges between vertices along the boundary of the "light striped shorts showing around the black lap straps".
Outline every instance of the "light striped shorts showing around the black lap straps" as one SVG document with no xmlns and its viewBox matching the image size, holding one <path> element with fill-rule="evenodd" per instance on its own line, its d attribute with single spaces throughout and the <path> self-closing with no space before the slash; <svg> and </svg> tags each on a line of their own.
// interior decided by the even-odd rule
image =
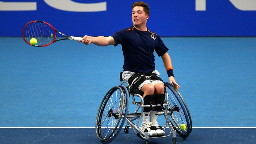
<svg viewBox="0 0 256 144">
<path fill-rule="evenodd" d="M 122 71 L 123 74 L 122 74 L 122 78 L 123 80 L 126 80 L 128 81 L 128 79 L 134 75 L 136 72 L 130 72 L 130 71 Z M 154 70 L 152 73 L 156 74 L 156 75 L 160 75 L 160 73 L 157 71 L 157 70 Z M 147 76 L 146 76 L 147 77 Z M 146 81 L 144 81 L 143 83 L 141 83 L 137 88 L 140 90 L 142 88 L 142 86 L 144 86 L 145 84 L 148 84 L 148 83 L 152 83 L 153 86 L 156 84 L 156 83 L 162 83 L 162 81 L 159 81 L 159 80 L 149 80 L 149 79 L 146 79 Z"/>
</svg>

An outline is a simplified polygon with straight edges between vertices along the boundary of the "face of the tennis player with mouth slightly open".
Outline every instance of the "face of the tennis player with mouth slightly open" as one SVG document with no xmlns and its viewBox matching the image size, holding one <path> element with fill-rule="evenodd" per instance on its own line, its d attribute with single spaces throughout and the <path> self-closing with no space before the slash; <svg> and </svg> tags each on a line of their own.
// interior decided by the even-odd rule
<svg viewBox="0 0 256 144">
<path fill-rule="evenodd" d="M 145 14 L 143 7 L 136 6 L 132 9 L 132 23 L 135 26 L 141 26 L 146 24 L 149 15 Z"/>
</svg>

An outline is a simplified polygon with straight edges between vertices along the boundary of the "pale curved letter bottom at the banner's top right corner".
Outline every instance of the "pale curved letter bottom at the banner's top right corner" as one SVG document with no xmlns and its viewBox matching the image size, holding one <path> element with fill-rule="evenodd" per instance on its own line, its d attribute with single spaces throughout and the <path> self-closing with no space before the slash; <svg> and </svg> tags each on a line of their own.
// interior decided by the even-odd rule
<svg viewBox="0 0 256 144">
<path fill-rule="evenodd" d="M 229 0 L 239 10 L 256 10 L 256 0 Z"/>
</svg>

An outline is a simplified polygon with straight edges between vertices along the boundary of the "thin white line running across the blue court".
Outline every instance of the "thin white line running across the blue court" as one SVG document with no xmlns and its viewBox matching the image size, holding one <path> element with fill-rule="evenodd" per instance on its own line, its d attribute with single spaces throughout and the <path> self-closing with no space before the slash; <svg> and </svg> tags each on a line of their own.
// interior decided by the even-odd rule
<svg viewBox="0 0 256 144">
<path fill-rule="evenodd" d="M 84 129 L 84 128 L 95 129 L 95 127 L 0 127 L 0 129 Z M 122 127 L 122 128 L 125 128 L 125 127 Z M 166 128 L 169 128 L 169 127 L 166 127 Z M 256 129 L 256 127 L 193 127 L 193 129 Z"/>
</svg>

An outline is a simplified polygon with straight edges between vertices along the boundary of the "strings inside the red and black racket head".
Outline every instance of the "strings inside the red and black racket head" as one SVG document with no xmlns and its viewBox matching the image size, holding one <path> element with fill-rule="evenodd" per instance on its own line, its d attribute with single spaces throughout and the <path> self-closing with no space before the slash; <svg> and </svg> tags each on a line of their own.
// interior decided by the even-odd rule
<svg viewBox="0 0 256 144">
<path fill-rule="evenodd" d="M 35 38 L 38 46 L 47 45 L 54 41 L 55 30 L 45 23 L 33 22 L 26 26 L 24 38 L 29 43 L 32 38 Z"/>
</svg>

